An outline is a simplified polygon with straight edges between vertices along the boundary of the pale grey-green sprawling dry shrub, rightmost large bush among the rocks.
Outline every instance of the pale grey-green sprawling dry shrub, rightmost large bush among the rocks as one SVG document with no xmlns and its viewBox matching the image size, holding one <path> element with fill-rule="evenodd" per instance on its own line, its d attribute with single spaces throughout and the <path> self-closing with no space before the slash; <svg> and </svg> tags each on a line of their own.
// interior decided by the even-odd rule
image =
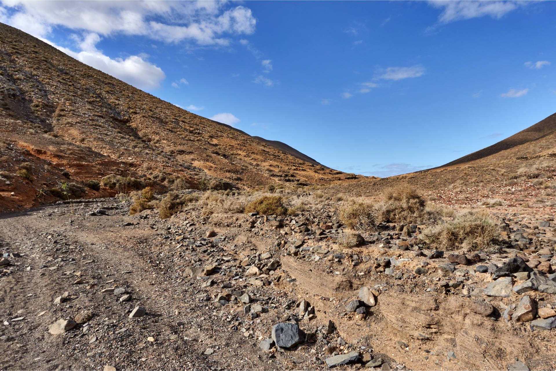
<svg viewBox="0 0 556 371">
<path fill-rule="evenodd" d="M 486 212 L 467 211 L 424 229 L 420 238 L 432 249 L 495 251 L 500 234 Z"/>
</svg>

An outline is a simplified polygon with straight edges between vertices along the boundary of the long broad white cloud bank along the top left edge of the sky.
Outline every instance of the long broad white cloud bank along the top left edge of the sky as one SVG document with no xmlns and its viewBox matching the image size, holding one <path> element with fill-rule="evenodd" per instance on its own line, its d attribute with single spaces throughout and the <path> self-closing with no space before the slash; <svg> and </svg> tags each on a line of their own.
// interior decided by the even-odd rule
<svg viewBox="0 0 556 371">
<path fill-rule="evenodd" d="M 102 36 L 121 33 L 227 45 L 226 34 L 252 34 L 256 24 L 251 9 L 225 10 L 226 2 L 4 1 L 3 6 L 15 11 L 5 17 L 8 24 L 37 37 L 46 37 L 53 26 L 64 26 Z"/>
</svg>

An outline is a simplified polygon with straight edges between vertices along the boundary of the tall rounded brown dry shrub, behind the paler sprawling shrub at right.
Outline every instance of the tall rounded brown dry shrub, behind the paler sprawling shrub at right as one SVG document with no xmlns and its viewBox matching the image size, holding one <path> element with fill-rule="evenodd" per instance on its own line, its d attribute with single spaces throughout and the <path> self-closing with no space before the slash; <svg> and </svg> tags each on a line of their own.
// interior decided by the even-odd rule
<svg viewBox="0 0 556 371">
<path fill-rule="evenodd" d="M 395 186 L 375 205 L 376 217 L 386 223 L 413 223 L 429 219 L 425 199 L 409 185 Z"/>
</svg>

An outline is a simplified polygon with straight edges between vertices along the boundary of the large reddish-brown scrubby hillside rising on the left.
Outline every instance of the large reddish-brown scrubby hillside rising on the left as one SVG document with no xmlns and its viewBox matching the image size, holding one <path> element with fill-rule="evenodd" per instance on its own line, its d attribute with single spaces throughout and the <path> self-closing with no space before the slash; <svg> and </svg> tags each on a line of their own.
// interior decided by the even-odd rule
<svg viewBox="0 0 556 371">
<path fill-rule="evenodd" d="M 182 110 L 1 23 L 0 97 L 0 210 L 57 200 L 49 190 L 64 182 L 110 174 L 163 189 L 339 178 L 289 146 Z"/>
</svg>

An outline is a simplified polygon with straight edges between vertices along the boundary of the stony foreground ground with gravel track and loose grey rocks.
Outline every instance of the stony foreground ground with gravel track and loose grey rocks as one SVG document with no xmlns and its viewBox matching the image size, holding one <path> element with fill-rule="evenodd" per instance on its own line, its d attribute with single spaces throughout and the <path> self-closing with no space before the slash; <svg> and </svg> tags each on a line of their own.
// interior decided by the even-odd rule
<svg viewBox="0 0 556 371">
<path fill-rule="evenodd" d="M 2 369 L 554 369 L 555 222 L 489 210 L 501 252 L 356 241 L 334 210 L 0 215 Z M 274 332 L 273 332 L 274 328 Z M 299 331 L 298 331 L 299 329 Z"/>
</svg>

